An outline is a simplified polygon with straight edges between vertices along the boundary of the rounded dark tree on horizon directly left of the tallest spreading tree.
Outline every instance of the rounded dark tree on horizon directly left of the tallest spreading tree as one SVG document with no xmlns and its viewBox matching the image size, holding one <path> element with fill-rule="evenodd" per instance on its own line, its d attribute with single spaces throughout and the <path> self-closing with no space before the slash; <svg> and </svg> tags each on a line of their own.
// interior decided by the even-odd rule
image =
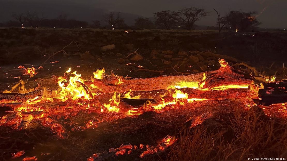
<svg viewBox="0 0 287 161">
<path fill-rule="evenodd" d="M 154 13 L 154 17 L 156 18 L 156 24 L 160 26 L 164 26 L 166 30 L 170 30 L 173 25 L 177 24 L 178 20 L 178 12 L 175 11 L 160 11 Z"/>
</svg>

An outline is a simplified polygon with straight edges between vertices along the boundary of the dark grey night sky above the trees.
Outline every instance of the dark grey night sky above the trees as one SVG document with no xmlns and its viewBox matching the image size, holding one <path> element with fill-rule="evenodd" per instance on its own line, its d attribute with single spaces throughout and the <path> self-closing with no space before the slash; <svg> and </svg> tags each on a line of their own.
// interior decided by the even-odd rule
<svg viewBox="0 0 287 161">
<path fill-rule="evenodd" d="M 287 0 L 0 0 L 0 22 L 12 19 L 15 12 L 36 11 L 48 18 L 66 13 L 69 18 L 91 21 L 102 20 L 109 11 L 122 13 L 126 23 L 132 25 L 137 17 L 153 17 L 154 12 L 200 7 L 210 12 L 197 25 L 215 25 L 216 8 L 221 15 L 230 10 L 257 11 L 262 28 L 287 28 Z"/>
</svg>

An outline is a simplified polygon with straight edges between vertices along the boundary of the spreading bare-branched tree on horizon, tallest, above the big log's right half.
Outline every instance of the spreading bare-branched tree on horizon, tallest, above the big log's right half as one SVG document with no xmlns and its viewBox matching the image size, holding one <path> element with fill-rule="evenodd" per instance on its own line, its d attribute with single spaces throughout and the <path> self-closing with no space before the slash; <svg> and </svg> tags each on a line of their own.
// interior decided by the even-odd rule
<svg viewBox="0 0 287 161">
<path fill-rule="evenodd" d="M 183 8 L 179 10 L 179 23 L 182 28 L 191 30 L 196 21 L 201 17 L 208 16 L 208 12 L 205 12 L 204 9 L 190 7 Z"/>
</svg>

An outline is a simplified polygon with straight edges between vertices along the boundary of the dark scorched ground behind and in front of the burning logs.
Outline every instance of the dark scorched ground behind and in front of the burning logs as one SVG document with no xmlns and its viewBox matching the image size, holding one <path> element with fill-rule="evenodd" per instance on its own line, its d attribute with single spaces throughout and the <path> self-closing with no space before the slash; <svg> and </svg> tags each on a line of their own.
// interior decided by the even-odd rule
<svg viewBox="0 0 287 161">
<path fill-rule="evenodd" d="M 79 41 L 78 46 L 71 44 L 65 48 L 65 53 L 60 52 L 42 64 L 49 55 L 61 50 L 72 41 Z M 130 43 L 133 47 L 126 45 Z M 190 58 L 200 52 L 234 57 L 238 59 L 238 62 L 244 61 L 256 67 L 265 75 L 276 74 L 280 79 L 284 78 L 284 72 L 286 74 L 283 66 L 287 60 L 286 43 L 287 32 L 238 34 L 225 32 L 219 35 L 217 31 L 212 30 L 190 32 L 137 30 L 125 33 L 123 30 L 94 29 L 0 29 L 0 91 L 10 90 L 11 86 L 18 82 L 19 78 L 15 78 L 18 76 L 25 80 L 26 88 L 35 88 L 40 85 L 48 89 L 57 89 L 56 79 L 52 76 L 63 76 L 69 67 L 72 71 L 82 74 L 82 77 L 87 80 L 92 76 L 92 72 L 103 67 L 108 74 L 113 72 L 133 78 L 196 73 L 219 67 L 218 58 L 213 56 L 204 56 L 199 61 Z M 100 50 L 102 46 L 110 44 L 114 44 L 115 49 Z M 154 49 L 158 50 L 157 55 L 151 54 Z M 143 60 L 130 60 L 135 54 L 127 57 L 135 50 L 143 57 Z M 162 54 L 165 50 L 171 50 L 172 53 Z M 186 51 L 186 54 L 178 55 L 179 51 Z M 121 62 L 119 62 L 120 59 L 122 59 Z M 55 61 L 59 62 L 50 63 Z M 133 64 L 126 65 L 128 63 Z M 235 62 L 229 61 L 229 63 Z M 34 77 L 29 78 L 30 76 L 22 76 L 24 70 L 17 69 L 19 65 L 35 68 L 43 66 L 43 68 L 37 70 L 38 74 Z M 160 72 L 137 71 L 138 69 Z M 102 94 L 99 100 L 101 103 L 108 103 L 110 98 L 110 94 Z M 226 118 L 231 106 L 244 108 L 240 101 L 221 100 L 191 103 L 179 109 L 171 109 L 162 113 L 147 112 L 136 116 L 121 113 L 98 115 L 80 112 L 77 116 L 69 118 L 70 120 L 61 119 L 60 122 L 65 124 L 65 121 L 75 121 L 78 126 L 83 126 L 86 121 L 103 115 L 120 119 L 109 121 L 96 129 L 70 131 L 66 140 L 58 140 L 49 129 L 36 125 L 35 129 L 11 131 L 3 135 L 11 138 L 8 142 L 16 145 L 17 148 L 13 149 L 13 152 L 25 149 L 24 156 L 37 156 L 38 160 L 86 160 L 94 153 L 119 147 L 124 142 L 137 146 L 139 144 L 156 145 L 158 140 L 164 138 L 189 117 L 211 111 L 214 117 Z M 71 130 L 71 127 L 68 126 L 67 129 Z M 14 138 L 19 139 L 13 142 Z M 131 158 L 132 160 L 138 158 L 138 154 L 120 156 L 115 160 L 130 160 Z M 18 158 L 18 160 L 21 159 Z"/>
</svg>

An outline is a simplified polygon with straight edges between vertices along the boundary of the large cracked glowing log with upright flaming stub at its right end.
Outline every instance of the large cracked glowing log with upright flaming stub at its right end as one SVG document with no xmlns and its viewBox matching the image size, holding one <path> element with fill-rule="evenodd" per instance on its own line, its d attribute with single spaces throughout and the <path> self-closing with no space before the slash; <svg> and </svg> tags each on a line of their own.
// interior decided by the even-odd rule
<svg viewBox="0 0 287 161">
<path fill-rule="evenodd" d="M 243 74 L 234 72 L 224 59 L 219 60 L 221 67 L 218 70 L 201 72 L 190 75 L 158 76 L 155 78 L 118 78 L 114 75 L 103 79 L 92 79 L 85 84 L 93 84 L 103 92 L 154 91 L 174 87 L 188 87 L 199 89 L 212 89 L 220 86 L 248 87 L 253 80 L 244 78 Z"/>
</svg>

